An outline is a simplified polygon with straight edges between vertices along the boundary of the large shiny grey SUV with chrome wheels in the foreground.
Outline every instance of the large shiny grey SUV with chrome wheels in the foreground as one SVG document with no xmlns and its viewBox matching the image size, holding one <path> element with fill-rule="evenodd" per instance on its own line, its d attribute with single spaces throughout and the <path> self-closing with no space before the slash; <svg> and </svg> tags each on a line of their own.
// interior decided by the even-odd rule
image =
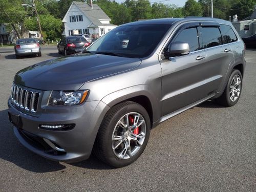
<svg viewBox="0 0 256 192">
<path fill-rule="evenodd" d="M 93 151 L 122 167 L 139 158 L 151 129 L 166 119 L 208 99 L 236 104 L 244 54 L 242 39 L 221 19 L 121 25 L 82 54 L 17 72 L 9 119 L 18 140 L 38 155 L 74 162 Z"/>
</svg>

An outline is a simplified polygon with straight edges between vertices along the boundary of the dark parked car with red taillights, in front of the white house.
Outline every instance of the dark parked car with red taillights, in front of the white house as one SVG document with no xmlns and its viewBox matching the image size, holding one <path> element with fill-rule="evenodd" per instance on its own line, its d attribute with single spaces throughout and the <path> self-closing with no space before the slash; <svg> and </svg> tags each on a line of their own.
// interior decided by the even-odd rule
<svg viewBox="0 0 256 192">
<path fill-rule="evenodd" d="M 90 46 L 90 42 L 88 42 L 85 38 L 81 36 L 68 36 L 63 37 L 58 43 L 58 53 L 70 55 L 73 53 L 82 52 Z"/>
</svg>

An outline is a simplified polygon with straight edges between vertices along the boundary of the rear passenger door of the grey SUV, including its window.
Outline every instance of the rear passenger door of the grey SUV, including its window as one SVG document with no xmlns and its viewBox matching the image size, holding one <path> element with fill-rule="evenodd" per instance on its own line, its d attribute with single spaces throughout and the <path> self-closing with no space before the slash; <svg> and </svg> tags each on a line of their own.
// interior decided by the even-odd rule
<svg viewBox="0 0 256 192">
<path fill-rule="evenodd" d="M 233 51 L 228 44 L 223 44 L 220 25 L 202 23 L 200 39 L 207 56 L 205 71 L 206 90 L 218 92 L 221 82 L 227 73 L 230 63 L 234 60 Z"/>
</svg>

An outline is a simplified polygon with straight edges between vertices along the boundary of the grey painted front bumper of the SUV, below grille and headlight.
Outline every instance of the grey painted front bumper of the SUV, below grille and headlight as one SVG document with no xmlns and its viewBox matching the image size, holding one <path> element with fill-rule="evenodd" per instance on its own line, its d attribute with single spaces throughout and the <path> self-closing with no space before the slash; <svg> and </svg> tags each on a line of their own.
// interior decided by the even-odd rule
<svg viewBox="0 0 256 192">
<path fill-rule="evenodd" d="M 18 111 L 8 101 L 8 113 L 19 116 L 13 131 L 20 143 L 32 152 L 55 161 L 77 162 L 88 159 L 105 113 L 110 109 L 102 101 L 89 101 L 79 106 L 58 106 L 45 110 L 38 117 Z M 75 124 L 72 130 L 52 131 L 39 125 Z M 64 151 L 54 150 L 50 141 Z"/>
</svg>

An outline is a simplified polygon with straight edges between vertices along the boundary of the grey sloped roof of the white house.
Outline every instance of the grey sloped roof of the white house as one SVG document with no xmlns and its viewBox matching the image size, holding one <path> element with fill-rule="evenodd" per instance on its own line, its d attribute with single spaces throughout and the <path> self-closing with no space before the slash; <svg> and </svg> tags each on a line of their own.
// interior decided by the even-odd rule
<svg viewBox="0 0 256 192">
<path fill-rule="evenodd" d="M 91 20 L 90 26 L 114 26 L 113 24 L 102 24 L 99 20 L 111 20 L 111 18 L 105 14 L 105 12 L 97 5 L 93 4 L 93 9 L 84 2 L 73 2 L 77 8 Z M 65 15 L 66 17 L 66 15 Z M 63 20 L 65 19 L 63 18 Z M 62 20 L 62 22 L 63 22 Z"/>
</svg>

